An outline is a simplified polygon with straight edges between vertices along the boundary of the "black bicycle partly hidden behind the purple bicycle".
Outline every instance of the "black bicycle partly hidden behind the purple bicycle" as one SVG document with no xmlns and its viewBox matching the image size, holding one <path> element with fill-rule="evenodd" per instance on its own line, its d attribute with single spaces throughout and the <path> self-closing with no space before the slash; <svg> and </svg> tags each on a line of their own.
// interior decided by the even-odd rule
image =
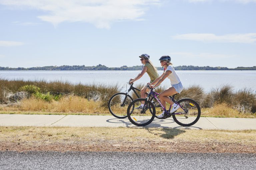
<svg viewBox="0 0 256 170">
<path fill-rule="evenodd" d="M 135 93 L 137 98 L 140 98 L 140 96 L 136 92 L 136 90 L 140 92 L 140 89 L 133 87 L 133 83 L 129 84 L 129 85 L 130 85 L 130 88 L 128 89 L 128 91 L 126 93 L 116 93 L 108 101 L 108 110 L 111 113 L 111 115 L 113 115 L 116 118 L 119 118 L 119 119 L 127 118 L 127 114 L 126 114 L 127 108 L 133 101 L 133 98 L 129 95 L 129 92 L 131 90 Z M 146 94 L 148 94 L 148 93 L 146 93 Z M 156 96 L 156 98 L 157 98 L 157 96 Z M 149 98 L 149 101 L 151 101 L 154 104 L 155 108 L 157 108 L 156 109 L 157 112 L 159 112 L 159 113 L 163 112 L 161 105 L 157 102 L 157 100 L 155 98 Z M 157 116 L 156 116 L 156 118 L 157 118 Z M 165 118 L 166 117 L 163 117 L 161 119 L 165 119 Z"/>
</svg>

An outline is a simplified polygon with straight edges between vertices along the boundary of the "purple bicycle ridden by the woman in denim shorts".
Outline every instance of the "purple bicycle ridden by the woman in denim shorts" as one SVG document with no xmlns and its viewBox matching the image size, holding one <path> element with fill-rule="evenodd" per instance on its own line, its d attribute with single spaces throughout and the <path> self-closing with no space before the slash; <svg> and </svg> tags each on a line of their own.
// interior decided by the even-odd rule
<svg viewBox="0 0 256 170">
<path fill-rule="evenodd" d="M 149 88 L 148 85 L 147 87 Z M 169 96 L 171 100 L 180 107 L 177 111 L 170 113 L 172 105 L 170 105 L 169 110 L 166 110 L 160 100 L 157 98 L 158 95 L 159 93 L 151 89 L 146 99 L 139 98 L 132 101 L 127 108 L 127 117 L 129 121 L 136 126 L 146 126 L 154 120 L 156 116 L 156 110 L 159 109 L 165 111 L 164 118 L 169 118 L 172 116 L 173 120 L 180 126 L 192 126 L 199 120 L 201 109 L 197 102 L 193 99 L 186 98 L 176 102 L 174 100 L 175 95 Z M 157 105 L 151 102 L 152 98 L 154 101 L 158 102 Z M 142 109 L 139 109 L 142 101 L 144 101 L 145 104 Z"/>
</svg>

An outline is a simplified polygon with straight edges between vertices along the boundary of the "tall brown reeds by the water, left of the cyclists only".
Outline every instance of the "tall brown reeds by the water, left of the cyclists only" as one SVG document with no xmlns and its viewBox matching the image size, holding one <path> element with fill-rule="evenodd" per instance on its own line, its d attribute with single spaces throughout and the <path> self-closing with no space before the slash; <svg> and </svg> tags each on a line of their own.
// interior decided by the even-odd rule
<svg viewBox="0 0 256 170">
<path fill-rule="evenodd" d="M 6 93 L 16 93 L 19 89 L 25 85 L 34 85 L 41 89 L 42 93 L 50 92 L 51 95 L 67 95 L 74 94 L 76 96 L 81 96 L 88 100 L 94 101 L 104 101 L 102 106 L 107 106 L 107 101 L 109 98 L 120 92 L 120 87 L 118 84 L 104 84 L 104 83 L 93 83 L 93 84 L 72 84 L 68 81 L 50 81 L 45 80 L 31 81 L 31 80 L 6 80 L 0 78 L 0 102 L 6 103 L 4 98 L 1 98 L 2 89 L 5 89 Z M 2 101 L 1 101 L 2 100 Z"/>
</svg>

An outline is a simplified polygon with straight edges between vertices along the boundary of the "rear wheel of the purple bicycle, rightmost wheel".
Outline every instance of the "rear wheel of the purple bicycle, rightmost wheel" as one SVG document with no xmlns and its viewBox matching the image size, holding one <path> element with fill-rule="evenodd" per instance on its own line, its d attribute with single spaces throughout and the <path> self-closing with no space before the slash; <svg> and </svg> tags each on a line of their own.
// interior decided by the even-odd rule
<svg viewBox="0 0 256 170">
<path fill-rule="evenodd" d="M 180 126 L 192 126 L 200 118 L 201 109 L 196 101 L 192 99 L 181 99 L 177 103 L 182 106 L 172 115 L 173 120 Z"/>
</svg>

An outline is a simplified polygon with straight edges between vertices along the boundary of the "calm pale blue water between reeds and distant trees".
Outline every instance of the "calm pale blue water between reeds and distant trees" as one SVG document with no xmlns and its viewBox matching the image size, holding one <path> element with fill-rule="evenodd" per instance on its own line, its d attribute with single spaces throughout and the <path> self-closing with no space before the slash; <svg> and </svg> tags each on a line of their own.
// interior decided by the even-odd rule
<svg viewBox="0 0 256 170">
<path fill-rule="evenodd" d="M 230 84 L 234 90 L 244 87 L 256 89 L 256 71 L 176 71 L 184 87 L 200 85 L 209 91 L 224 84 Z M 24 80 L 62 80 L 71 83 L 118 83 L 124 86 L 130 78 L 135 78 L 140 71 L 0 71 L 0 77 Z M 159 75 L 163 71 L 158 72 Z M 144 76 L 135 82 L 147 83 L 150 79 Z M 163 85 L 170 85 L 169 79 Z"/>
</svg>

